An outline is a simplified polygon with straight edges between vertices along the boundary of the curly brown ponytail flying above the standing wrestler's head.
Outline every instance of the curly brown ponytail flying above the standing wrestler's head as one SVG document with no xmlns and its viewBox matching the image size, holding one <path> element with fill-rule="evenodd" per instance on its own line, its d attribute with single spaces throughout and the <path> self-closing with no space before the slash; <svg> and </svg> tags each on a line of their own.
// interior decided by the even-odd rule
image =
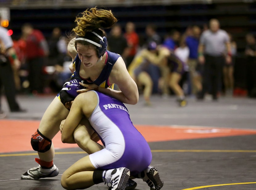
<svg viewBox="0 0 256 190">
<path fill-rule="evenodd" d="M 79 36 L 85 36 L 86 32 L 98 29 L 111 28 L 117 22 L 117 18 L 111 10 L 91 8 L 76 16 L 76 27 L 72 31 Z"/>
</svg>

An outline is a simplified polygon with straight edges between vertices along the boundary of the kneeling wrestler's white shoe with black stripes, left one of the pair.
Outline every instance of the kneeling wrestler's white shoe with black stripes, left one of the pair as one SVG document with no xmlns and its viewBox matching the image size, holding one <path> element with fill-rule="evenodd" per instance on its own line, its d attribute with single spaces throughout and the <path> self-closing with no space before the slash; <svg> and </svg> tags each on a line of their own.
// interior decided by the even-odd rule
<svg viewBox="0 0 256 190">
<path fill-rule="evenodd" d="M 130 177 L 130 170 L 128 168 L 117 168 L 111 172 L 111 190 L 125 190 L 126 184 Z"/>
</svg>

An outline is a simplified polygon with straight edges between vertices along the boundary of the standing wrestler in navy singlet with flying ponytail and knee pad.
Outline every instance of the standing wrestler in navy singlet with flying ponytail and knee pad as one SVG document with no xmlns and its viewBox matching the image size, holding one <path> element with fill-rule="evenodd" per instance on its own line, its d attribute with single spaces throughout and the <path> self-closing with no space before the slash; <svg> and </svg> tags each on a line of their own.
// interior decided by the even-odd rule
<svg viewBox="0 0 256 190">
<path fill-rule="evenodd" d="M 110 28 L 117 22 L 112 12 L 91 8 L 79 14 L 75 21 L 77 25 L 73 28 L 73 32 L 76 38 L 69 43 L 68 51 L 73 59 L 74 76 L 85 81 L 81 83 L 84 89 L 77 92 L 97 90 L 124 103 L 136 104 L 138 102 L 137 85 L 130 77 L 122 57 L 106 51 L 106 34 L 100 29 Z M 120 91 L 112 89 L 114 83 Z M 59 173 L 58 168 L 53 164 L 52 138 L 59 132 L 60 123 L 66 119 L 69 112 L 64 107 L 69 99 L 62 96 L 63 91 L 53 99 L 42 117 L 38 130 L 31 138 L 32 148 L 39 155 L 39 159 L 35 159 L 39 166 L 29 169 L 21 179 L 35 180 L 54 177 Z"/>
</svg>

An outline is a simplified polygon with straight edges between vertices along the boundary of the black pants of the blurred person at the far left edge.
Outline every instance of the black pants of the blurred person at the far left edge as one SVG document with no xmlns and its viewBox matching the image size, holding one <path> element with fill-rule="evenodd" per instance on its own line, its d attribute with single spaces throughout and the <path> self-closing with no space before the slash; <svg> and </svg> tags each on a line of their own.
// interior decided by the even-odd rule
<svg viewBox="0 0 256 190">
<path fill-rule="evenodd" d="M 6 62 L 0 61 L 0 95 L 2 87 L 4 87 L 4 92 L 9 104 L 10 111 L 19 110 L 19 104 L 15 99 L 16 89 L 14 83 L 13 70 L 8 59 Z"/>
</svg>

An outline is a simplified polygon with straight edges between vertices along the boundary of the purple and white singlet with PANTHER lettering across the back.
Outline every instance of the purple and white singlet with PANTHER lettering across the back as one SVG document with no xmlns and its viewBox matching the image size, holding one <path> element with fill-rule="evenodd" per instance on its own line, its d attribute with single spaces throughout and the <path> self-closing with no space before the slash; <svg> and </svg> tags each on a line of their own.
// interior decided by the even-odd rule
<svg viewBox="0 0 256 190">
<path fill-rule="evenodd" d="M 117 99 L 96 92 L 98 104 L 89 121 L 105 148 L 89 155 L 97 169 L 126 167 L 131 175 L 146 169 L 152 160 L 151 149 L 130 120 L 126 106 Z M 113 140 L 114 139 L 114 140 Z"/>
</svg>

